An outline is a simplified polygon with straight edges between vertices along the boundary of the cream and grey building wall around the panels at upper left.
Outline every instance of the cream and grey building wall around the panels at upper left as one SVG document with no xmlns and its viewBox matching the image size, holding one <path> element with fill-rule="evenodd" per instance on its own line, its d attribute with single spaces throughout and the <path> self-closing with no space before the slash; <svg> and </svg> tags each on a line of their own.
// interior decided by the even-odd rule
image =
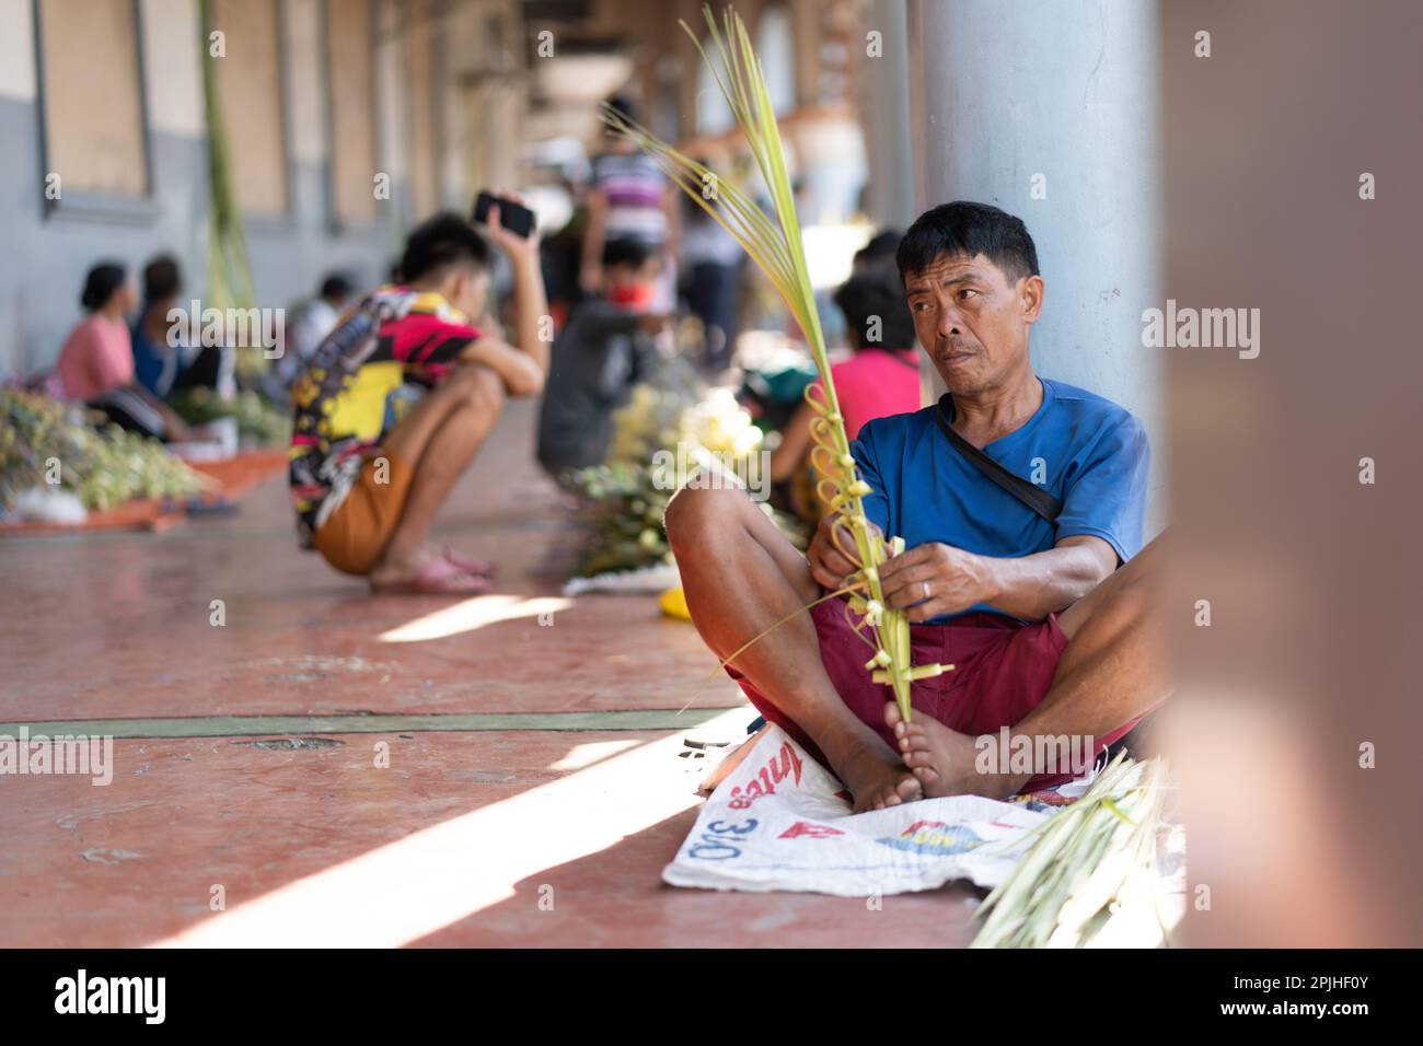
<svg viewBox="0 0 1423 1046">
<path fill-rule="evenodd" d="M 245 222 L 258 305 L 290 305 L 312 293 L 332 269 L 347 269 L 364 283 L 383 278 L 403 231 L 414 221 L 406 162 L 407 78 L 400 57 L 407 10 L 403 0 L 377 3 L 377 167 L 391 178 L 391 199 L 379 202 L 374 222 L 337 228 L 327 179 L 332 142 L 324 4 L 279 0 L 289 212 Z M 509 0 L 485 6 L 505 16 L 517 13 Z M 152 199 L 118 215 L 63 204 L 47 213 L 33 0 L 0 0 L 0 228 L 7 241 L 0 253 L 0 377 L 53 364 L 80 319 L 84 273 L 100 259 L 138 269 L 149 256 L 171 252 L 184 263 L 189 292 L 201 297 L 205 290 L 211 209 L 198 4 L 139 0 L 139 19 Z M 453 74 L 440 80 L 437 91 L 455 93 Z M 232 145 L 240 148 L 242 142 Z M 445 148 L 468 157 L 497 147 L 485 138 Z M 462 165 L 445 162 L 444 154 L 437 155 L 437 164 L 447 172 L 444 196 L 464 198 L 467 189 L 453 184 Z"/>
</svg>

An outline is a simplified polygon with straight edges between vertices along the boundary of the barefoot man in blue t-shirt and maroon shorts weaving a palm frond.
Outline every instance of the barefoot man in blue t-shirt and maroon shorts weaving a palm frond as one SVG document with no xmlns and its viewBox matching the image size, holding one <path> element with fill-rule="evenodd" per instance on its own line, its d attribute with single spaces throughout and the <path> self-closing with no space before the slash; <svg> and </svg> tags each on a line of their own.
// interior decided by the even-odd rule
<svg viewBox="0 0 1423 1046">
<path fill-rule="evenodd" d="M 731 662 L 753 704 L 828 763 L 857 810 L 1060 783 L 1067 776 L 1002 763 L 979 773 L 975 736 L 1012 727 L 1015 737 L 1091 737 L 1100 750 L 1167 693 L 1151 611 L 1160 541 L 1140 548 L 1147 438 L 1121 407 L 1033 374 L 1043 279 L 1023 222 L 945 204 L 911 226 L 898 266 L 949 393 L 869 421 L 852 450 L 872 488 L 865 514 L 906 542 L 879 576 L 887 602 L 908 608 L 912 660 L 955 669 L 914 683 L 904 723 L 889 689 L 871 682 L 869 648 L 838 599 Z M 1057 505 L 1043 509 L 1032 488 L 1009 492 L 972 448 Z M 855 572 L 844 525 L 824 521 L 803 556 L 740 490 L 682 490 L 666 525 L 692 618 L 721 657 Z"/>
</svg>

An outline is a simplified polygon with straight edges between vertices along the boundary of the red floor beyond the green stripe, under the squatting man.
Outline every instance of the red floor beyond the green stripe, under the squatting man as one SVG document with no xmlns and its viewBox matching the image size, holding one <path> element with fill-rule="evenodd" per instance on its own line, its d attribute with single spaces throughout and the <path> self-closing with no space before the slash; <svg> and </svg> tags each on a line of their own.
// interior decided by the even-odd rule
<svg viewBox="0 0 1423 1046">
<path fill-rule="evenodd" d="M 515 611 L 559 596 L 576 548 L 554 485 L 508 461 L 528 451 L 524 420 L 501 423 L 494 454 L 437 525 L 441 539 L 501 564 L 498 592 Z M 198 702 L 213 716 L 741 703 L 696 632 L 645 598 L 582 596 L 551 626 L 517 616 L 381 642 L 460 601 L 374 598 L 297 551 L 279 478 L 242 515 L 169 534 L 0 541 L 0 720 L 185 716 Z M 225 603 L 222 628 L 209 623 L 213 599 Z"/>
</svg>

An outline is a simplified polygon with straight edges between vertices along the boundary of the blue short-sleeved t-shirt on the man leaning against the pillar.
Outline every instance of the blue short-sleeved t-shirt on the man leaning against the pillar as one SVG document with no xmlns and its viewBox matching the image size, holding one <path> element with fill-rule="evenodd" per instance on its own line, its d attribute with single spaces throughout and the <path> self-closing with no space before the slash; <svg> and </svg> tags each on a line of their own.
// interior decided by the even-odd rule
<svg viewBox="0 0 1423 1046">
<path fill-rule="evenodd" d="M 1141 549 L 1146 517 L 1146 430 L 1110 400 L 1062 381 L 1042 384 L 1037 413 L 983 453 L 1057 498 L 1063 511 L 1056 527 L 953 448 L 935 421 L 938 406 L 875 418 L 859 430 L 851 453 L 874 490 L 864 498 L 865 515 L 908 548 L 936 541 L 1019 558 L 1086 534 L 1130 559 Z M 980 603 L 966 612 L 993 609 Z"/>
</svg>

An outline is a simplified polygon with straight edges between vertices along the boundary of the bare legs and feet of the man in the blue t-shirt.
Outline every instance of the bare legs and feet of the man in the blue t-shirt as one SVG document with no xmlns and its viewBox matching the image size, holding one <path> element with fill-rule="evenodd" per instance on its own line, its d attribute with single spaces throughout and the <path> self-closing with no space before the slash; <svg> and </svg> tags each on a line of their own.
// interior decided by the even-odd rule
<svg viewBox="0 0 1423 1046">
<path fill-rule="evenodd" d="M 805 558 L 744 491 L 682 490 L 666 527 L 692 619 L 719 657 L 824 595 Z M 1052 685 L 1026 717 L 999 726 L 1015 736 L 1106 737 L 1165 699 L 1165 645 L 1153 606 L 1161 555 L 1157 539 L 1057 616 L 1067 646 Z M 965 793 L 1000 798 L 1032 778 L 978 773 L 972 736 L 928 714 L 902 723 L 885 702 L 899 751 L 891 749 L 837 693 L 808 613 L 748 646 L 731 667 L 814 741 L 855 810 Z"/>
</svg>

